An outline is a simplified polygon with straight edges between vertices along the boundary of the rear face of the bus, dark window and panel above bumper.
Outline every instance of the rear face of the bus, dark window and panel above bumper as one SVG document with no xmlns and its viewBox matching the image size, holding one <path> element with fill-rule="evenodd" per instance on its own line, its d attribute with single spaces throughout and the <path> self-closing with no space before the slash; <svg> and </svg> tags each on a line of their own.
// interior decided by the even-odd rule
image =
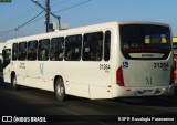
<svg viewBox="0 0 177 125">
<path fill-rule="evenodd" d="M 173 84 L 174 64 L 169 27 L 122 24 L 119 35 L 119 53 L 122 53 L 119 61 L 125 87 Z"/>
</svg>

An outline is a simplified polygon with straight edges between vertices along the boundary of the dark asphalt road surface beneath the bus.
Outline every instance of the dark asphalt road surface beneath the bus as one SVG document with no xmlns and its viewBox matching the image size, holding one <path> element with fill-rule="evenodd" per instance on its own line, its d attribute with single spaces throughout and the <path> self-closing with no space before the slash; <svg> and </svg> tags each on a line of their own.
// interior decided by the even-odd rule
<svg viewBox="0 0 177 125">
<path fill-rule="evenodd" d="M 124 118 L 124 116 L 128 118 L 134 116 L 177 118 L 177 96 L 115 100 L 87 100 L 70 96 L 67 101 L 59 102 L 52 92 L 29 87 L 14 91 L 0 77 L 0 115 L 1 117 L 45 116 L 51 123 L 62 122 L 75 125 L 90 125 L 90 122 L 97 125 L 116 125 L 118 117 Z M 0 124 L 2 124 L 1 121 Z"/>
</svg>

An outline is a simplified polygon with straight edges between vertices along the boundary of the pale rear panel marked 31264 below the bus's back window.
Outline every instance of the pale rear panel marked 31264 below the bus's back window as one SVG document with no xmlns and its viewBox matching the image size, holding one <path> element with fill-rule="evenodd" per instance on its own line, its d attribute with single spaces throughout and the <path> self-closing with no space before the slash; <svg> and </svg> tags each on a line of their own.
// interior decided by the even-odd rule
<svg viewBox="0 0 177 125">
<path fill-rule="evenodd" d="M 127 61 L 123 63 L 125 86 L 166 86 L 170 83 L 171 62 L 167 61 Z"/>
</svg>

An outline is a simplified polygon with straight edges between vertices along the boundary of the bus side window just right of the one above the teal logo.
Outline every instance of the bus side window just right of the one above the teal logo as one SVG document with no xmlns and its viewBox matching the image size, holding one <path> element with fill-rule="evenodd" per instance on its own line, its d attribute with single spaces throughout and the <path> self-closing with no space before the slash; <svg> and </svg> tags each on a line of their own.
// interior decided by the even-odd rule
<svg viewBox="0 0 177 125">
<path fill-rule="evenodd" d="M 53 38 L 51 40 L 50 60 L 62 61 L 64 55 L 64 38 Z"/>
</svg>

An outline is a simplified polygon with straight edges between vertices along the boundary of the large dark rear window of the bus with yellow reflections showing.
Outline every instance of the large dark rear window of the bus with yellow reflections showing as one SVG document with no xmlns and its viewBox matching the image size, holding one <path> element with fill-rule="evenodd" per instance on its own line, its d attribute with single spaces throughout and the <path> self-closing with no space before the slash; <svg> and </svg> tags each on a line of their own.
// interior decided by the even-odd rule
<svg viewBox="0 0 177 125">
<path fill-rule="evenodd" d="M 171 50 L 170 31 L 168 27 L 153 24 L 119 25 L 121 48 L 126 51 L 166 51 Z"/>
</svg>

